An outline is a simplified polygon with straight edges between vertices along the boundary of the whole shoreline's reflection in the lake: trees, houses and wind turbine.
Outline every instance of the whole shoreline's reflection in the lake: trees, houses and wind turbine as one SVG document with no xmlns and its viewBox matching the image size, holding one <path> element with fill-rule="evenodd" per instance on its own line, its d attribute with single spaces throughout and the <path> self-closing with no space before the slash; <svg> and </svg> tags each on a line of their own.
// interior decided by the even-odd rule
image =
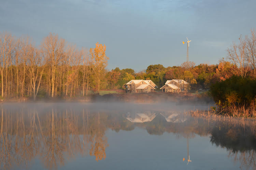
<svg viewBox="0 0 256 170">
<path fill-rule="evenodd" d="M 228 156 L 242 168 L 256 168 L 255 121 L 199 118 L 178 112 L 93 111 L 84 109 L 1 109 L 1 169 L 28 166 L 38 157 L 47 169 L 57 169 L 78 155 L 105 159 L 109 147 L 108 129 L 132 131 L 139 127 L 149 134 L 176 134 L 187 139 L 208 136 L 215 146 L 228 150 Z M 185 158 L 184 158 L 185 159 Z M 195 160 L 195 158 L 193 158 Z M 191 163 L 190 163 L 191 164 Z"/>
</svg>

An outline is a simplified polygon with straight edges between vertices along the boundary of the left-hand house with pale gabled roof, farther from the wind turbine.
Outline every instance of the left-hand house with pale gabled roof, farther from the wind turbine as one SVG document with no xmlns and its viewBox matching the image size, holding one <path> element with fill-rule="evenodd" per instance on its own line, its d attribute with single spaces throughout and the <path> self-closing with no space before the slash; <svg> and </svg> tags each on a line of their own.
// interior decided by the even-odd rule
<svg viewBox="0 0 256 170">
<path fill-rule="evenodd" d="M 154 92 L 158 88 L 151 80 L 131 80 L 126 85 L 127 93 Z"/>
</svg>

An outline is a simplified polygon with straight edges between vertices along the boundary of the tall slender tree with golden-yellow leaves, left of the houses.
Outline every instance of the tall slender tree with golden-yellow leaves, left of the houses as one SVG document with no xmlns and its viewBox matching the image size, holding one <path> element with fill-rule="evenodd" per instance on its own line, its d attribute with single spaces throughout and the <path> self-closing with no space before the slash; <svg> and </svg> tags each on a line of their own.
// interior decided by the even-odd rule
<svg viewBox="0 0 256 170">
<path fill-rule="evenodd" d="M 108 65 L 109 57 L 106 56 L 106 46 L 96 43 L 95 48 L 90 48 L 91 61 L 94 65 L 93 70 L 98 81 L 98 93 L 100 92 L 100 74 Z"/>
</svg>

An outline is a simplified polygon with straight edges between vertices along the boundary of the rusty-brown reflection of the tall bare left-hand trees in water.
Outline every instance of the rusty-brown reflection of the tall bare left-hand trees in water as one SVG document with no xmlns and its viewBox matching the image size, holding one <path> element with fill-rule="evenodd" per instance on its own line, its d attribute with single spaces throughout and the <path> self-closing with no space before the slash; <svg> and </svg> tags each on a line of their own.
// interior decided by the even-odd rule
<svg viewBox="0 0 256 170">
<path fill-rule="evenodd" d="M 84 110 L 81 113 L 52 109 L 39 114 L 35 109 L 1 109 L 0 168 L 28 168 L 37 156 L 47 169 L 57 169 L 78 154 L 90 153 L 97 161 L 105 158 L 108 144 L 100 114 L 96 123 L 95 114 Z"/>
</svg>

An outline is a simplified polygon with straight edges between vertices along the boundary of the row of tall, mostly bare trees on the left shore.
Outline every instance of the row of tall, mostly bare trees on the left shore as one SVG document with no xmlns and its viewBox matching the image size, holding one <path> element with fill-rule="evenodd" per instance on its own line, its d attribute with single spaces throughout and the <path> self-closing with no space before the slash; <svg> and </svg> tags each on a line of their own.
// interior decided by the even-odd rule
<svg viewBox="0 0 256 170">
<path fill-rule="evenodd" d="M 73 97 L 87 95 L 89 88 L 99 91 L 109 59 L 105 50 L 99 43 L 90 50 L 77 48 L 52 33 L 39 47 L 29 37 L 0 33 L 1 97 Z"/>
</svg>

